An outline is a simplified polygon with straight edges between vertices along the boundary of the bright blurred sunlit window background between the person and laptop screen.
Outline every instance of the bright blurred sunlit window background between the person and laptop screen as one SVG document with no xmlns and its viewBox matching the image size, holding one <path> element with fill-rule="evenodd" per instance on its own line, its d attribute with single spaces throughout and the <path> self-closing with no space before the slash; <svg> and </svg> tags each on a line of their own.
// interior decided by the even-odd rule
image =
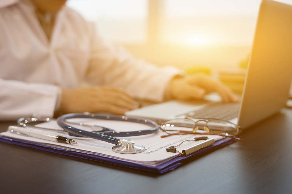
<svg viewBox="0 0 292 194">
<path fill-rule="evenodd" d="M 279 0 L 292 4 L 292 0 Z M 260 0 L 68 0 L 135 57 L 218 75 L 240 92 Z"/>
</svg>

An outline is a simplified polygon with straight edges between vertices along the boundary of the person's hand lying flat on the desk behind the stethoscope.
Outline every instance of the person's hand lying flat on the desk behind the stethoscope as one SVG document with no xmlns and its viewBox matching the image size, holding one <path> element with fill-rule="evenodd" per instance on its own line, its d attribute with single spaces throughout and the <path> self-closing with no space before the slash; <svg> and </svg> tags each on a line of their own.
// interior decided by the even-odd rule
<svg viewBox="0 0 292 194">
<path fill-rule="evenodd" d="M 113 87 L 63 88 L 61 113 L 109 112 L 123 115 L 139 104 L 126 92 Z"/>
</svg>

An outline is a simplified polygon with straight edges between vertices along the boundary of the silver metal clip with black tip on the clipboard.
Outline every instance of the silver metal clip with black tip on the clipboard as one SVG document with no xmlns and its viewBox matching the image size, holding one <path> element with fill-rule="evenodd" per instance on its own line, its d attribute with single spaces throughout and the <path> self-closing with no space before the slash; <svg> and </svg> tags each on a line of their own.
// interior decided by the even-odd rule
<svg viewBox="0 0 292 194">
<path fill-rule="evenodd" d="M 176 147 L 182 145 L 186 141 L 199 141 L 199 140 L 205 140 L 205 141 L 198 143 L 196 145 L 193 145 L 191 147 L 188 147 L 187 149 L 184 149 L 182 152 L 179 152 L 176 148 Z M 215 143 L 215 140 L 213 138 L 208 138 L 207 136 L 196 137 L 196 138 L 191 139 L 191 140 L 183 140 L 177 146 L 170 146 L 170 147 L 166 148 L 166 152 L 177 152 L 177 153 L 181 154 L 180 156 L 187 156 L 187 155 L 192 154 L 194 152 L 198 152 L 199 150 L 204 149 L 205 147 L 208 147 L 209 145 L 211 145 L 213 143 Z"/>
</svg>

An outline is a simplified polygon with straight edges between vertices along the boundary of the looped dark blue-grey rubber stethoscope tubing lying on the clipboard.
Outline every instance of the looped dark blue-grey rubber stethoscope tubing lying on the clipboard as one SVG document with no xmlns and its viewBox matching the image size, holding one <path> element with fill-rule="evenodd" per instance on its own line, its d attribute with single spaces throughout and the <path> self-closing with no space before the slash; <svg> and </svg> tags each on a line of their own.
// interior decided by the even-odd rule
<svg viewBox="0 0 292 194">
<path fill-rule="evenodd" d="M 104 129 L 108 129 L 108 131 L 95 133 L 91 131 L 81 130 L 76 127 L 70 126 L 66 124 L 66 119 L 72 118 L 96 118 L 96 119 L 104 119 L 104 120 L 118 120 L 118 121 L 127 121 L 127 122 L 138 122 L 142 124 L 147 124 L 152 126 L 151 129 L 146 130 L 139 130 L 139 131 L 113 131 L 109 128 L 103 127 Z M 57 118 L 57 123 L 60 127 L 62 127 L 65 131 L 69 133 L 71 136 L 78 136 L 78 137 L 88 137 L 93 139 L 102 140 L 108 143 L 119 145 L 118 141 L 120 139 L 115 138 L 113 136 L 119 137 L 127 137 L 127 136 L 140 136 L 140 135 L 147 135 L 152 134 L 158 131 L 159 126 L 152 120 L 147 120 L 144 118 L 138 117 L 128 117 L 122 115 L 107 115 L 107 114 L 93 114 L 93 113 L 69 113 L 62 115 Z"/>
</svg>

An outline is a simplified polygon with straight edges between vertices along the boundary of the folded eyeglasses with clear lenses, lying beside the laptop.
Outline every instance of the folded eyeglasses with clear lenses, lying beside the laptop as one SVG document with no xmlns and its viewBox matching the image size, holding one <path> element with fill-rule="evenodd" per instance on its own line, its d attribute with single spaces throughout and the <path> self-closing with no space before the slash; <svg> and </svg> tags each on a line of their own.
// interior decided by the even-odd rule
<svg viewBox="0 0 292 194">
<path fill-rule="evenodd" d="M 242 139 L 235 137 L 239 134 L 239 126 L 227 120 L 215 118 L 177 118 L 161 123 L 160 129 L 168 134 L 161 137 L 186 134 L 209 134 L 242 141 Z"/>
</svg>

